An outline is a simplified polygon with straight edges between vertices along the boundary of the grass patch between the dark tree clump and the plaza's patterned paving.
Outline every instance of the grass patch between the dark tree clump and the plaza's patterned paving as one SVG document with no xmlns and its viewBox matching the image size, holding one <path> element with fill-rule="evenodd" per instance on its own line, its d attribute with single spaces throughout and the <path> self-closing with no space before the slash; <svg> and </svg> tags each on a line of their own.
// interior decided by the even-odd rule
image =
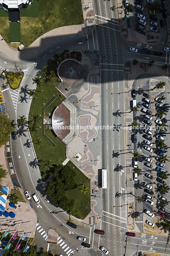
<svg viewBox="0 0 170 256">
<path fill-rule="evenodd" d="M 90 180 L 71 161 L 67 165 L 76 172 L 75 181 L 77 188 L 66 192 L 66 194 L 70 199 L 74 199 L 73 209 L 79 211 L 80 219 L 83 220 L 90 213 Z M 89 187 L 86 195 L 80 193 L 82 184 L 85 187 Z"/>
</svg>

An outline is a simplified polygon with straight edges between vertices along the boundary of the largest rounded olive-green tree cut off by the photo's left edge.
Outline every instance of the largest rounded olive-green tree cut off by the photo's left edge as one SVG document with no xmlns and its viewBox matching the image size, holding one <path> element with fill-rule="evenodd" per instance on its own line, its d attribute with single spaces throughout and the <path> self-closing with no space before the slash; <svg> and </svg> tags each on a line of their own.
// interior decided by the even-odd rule
<svg viewBox="0 0 170 256">
<path fill-rule="evenodd" d="M 9 141 L 9 134 L 14 130 L 12 123 L 13 120 L 0 113 L 0 147 Z"/>
</svg>

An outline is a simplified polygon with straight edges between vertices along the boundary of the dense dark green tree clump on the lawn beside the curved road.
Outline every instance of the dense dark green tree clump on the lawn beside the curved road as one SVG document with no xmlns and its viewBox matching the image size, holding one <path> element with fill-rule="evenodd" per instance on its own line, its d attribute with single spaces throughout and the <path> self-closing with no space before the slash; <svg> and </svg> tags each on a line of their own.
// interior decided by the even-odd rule
<svg viewBox="0 0 170 256">
<path fill-rule="evenodd" d="M 47 183 L 45 192 L 50 196 L 53 203 L 57 203 L 63 210 L 70 210 L 73 208 L 74 200 L 70 200 L 66 193 L 76 187 L 75 171 L 71 170 L 69 166 L 58 165 L 52 169 L 52 180 Z"/>
</svg>

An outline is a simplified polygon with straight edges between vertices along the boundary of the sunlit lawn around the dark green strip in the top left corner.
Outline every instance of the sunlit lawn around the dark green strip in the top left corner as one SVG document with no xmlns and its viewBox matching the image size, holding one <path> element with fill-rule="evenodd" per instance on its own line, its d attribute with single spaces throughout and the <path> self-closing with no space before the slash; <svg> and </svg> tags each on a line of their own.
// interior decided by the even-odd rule
<svg viewBox="0 0 170 256">
<path fill-rule="evenodd" d="M 32 8 L 31 5 L 28 8 Z M 58 27 L 84 23 L 81 0 L 40 0 L 38 1 L 38 17 L 22 17 L 22 15 L 26 15 L 26 12 L 29 11 L 21 11 L 20 17 L 20 42 L 25 46 L 33 43 L 42 35 L 42 32 L 46 33 Z M 8 17 L 0 17 L 0 23 L 3 24 L 1 34 L 6 38 L 5 41 L 10 43 L 10 31 L 4 29 L 4 18 L 5 23 L 9 22 Z M 10 45 L 19 46 L 17 44 Z"/>
</svg>

